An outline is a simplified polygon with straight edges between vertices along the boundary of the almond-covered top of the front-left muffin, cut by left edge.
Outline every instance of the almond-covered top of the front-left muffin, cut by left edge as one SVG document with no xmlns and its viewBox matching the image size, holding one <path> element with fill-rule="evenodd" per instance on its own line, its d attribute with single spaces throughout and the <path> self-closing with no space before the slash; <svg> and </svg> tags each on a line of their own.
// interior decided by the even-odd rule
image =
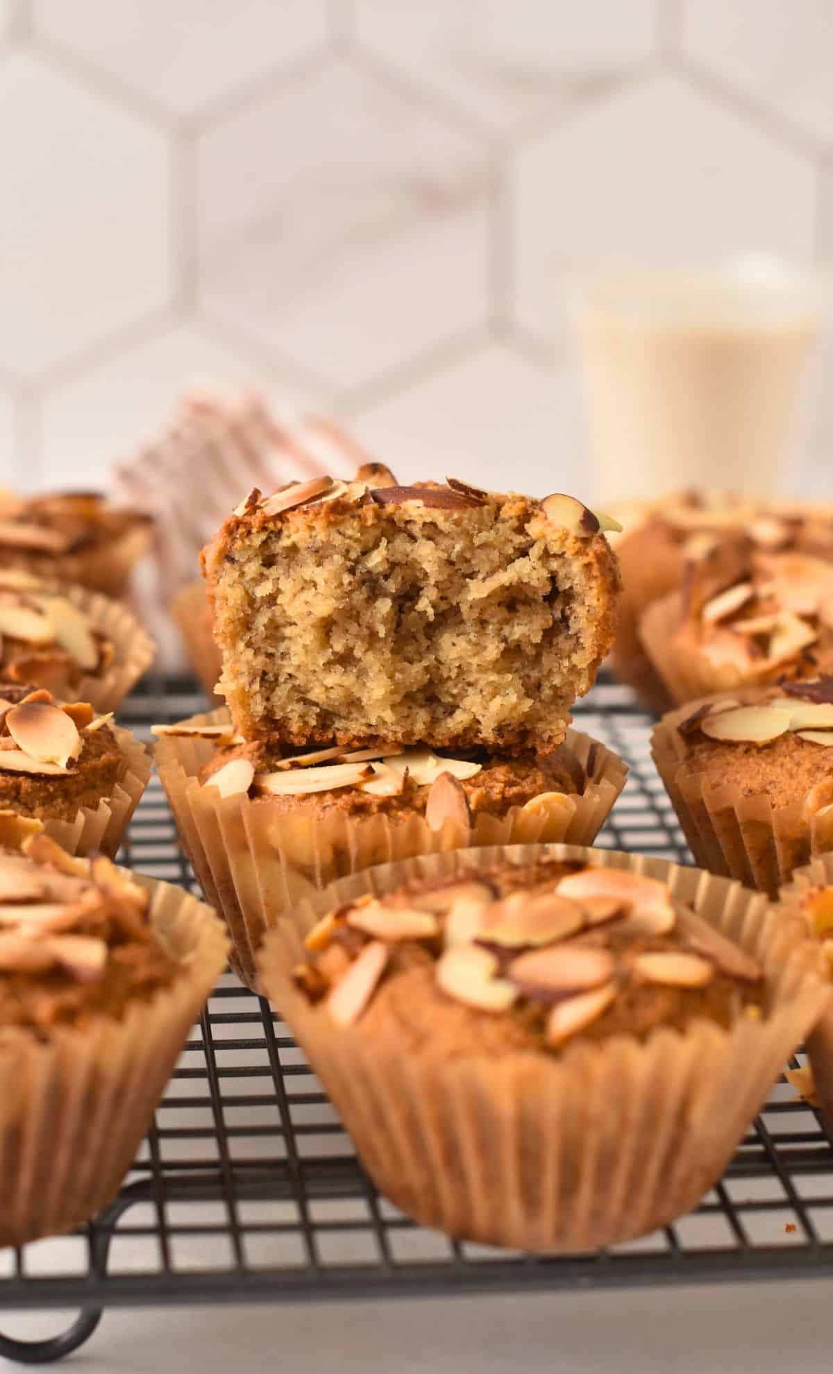
<svg viewBox="0 0 833 1374">
<path fill-rule="evenodd" d="M 103 855 L 73 859 L 45 835 L 0 851 L 0 1040 L 121 1017 L 179 974 L 144 888 Z"/>
</svg>

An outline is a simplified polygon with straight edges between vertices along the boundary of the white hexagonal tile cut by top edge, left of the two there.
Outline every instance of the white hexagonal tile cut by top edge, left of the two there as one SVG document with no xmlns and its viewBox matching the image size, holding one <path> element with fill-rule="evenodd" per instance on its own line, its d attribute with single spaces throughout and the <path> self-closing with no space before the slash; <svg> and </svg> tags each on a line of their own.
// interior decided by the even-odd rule
<svg viewBox="0 0 833 1374">
<path fill-rule="evenodd" d="M 195 114 L 327 40 L 326 0 L 37 0 L 40 33 L 169 114 Z"/>
</svg>

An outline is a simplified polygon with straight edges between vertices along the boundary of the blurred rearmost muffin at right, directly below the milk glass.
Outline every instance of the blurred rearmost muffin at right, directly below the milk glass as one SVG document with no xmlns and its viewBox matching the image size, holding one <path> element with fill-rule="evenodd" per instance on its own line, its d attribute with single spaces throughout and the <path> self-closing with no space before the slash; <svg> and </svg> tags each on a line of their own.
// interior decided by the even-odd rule
<svg viewBox="0 0 833 1374">
<path fill-rule="evenodd" d="M 748 554 L 833 558 L 830 507 L 687 491 L 617 515 L 624 532 L 612 536 L 612 544 L 621 567 L 623 595 L 610 666 L 652 710 L 665 710 L 680 698 L 672 697 L 661 665 L 656 666 L 646 653 L 639 621 L 654 602 L 679 592 L 690 565 L 700 565 L 726 544 L 745 545 Z"/>
</svg>

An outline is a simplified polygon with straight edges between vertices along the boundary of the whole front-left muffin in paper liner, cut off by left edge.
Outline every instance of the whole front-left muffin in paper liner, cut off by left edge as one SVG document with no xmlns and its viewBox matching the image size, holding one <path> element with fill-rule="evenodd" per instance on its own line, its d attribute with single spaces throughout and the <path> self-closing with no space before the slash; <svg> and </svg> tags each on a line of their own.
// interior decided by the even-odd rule
<svg viewBox="0 0 833 1374">
<path fill-rule="evenodd" d="M 0 1245 L 113 1198 L 225 959 L 181 889 L 23 848 L 0 852 Z"/>
</svg>

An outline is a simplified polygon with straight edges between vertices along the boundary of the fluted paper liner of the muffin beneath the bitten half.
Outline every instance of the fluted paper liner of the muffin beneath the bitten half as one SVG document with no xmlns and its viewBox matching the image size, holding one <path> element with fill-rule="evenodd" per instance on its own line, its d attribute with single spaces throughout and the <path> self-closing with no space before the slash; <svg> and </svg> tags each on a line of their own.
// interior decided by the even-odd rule
<svg viewBox="0 0 833 1374">
<path fill-rule="evenodd" d="M 227 724 L 228 710 L 192 716 L 187 724 Z M 474 845 L 568 841 L 592 844 L 625 783 L 627 767 L 605 745 L 568 730 L 566 746 L 592 778 L 584 796 L 537 798 L 506 816 L 478 815 L 473 826 L 447 822 L 429 829 L 422 816 L 352 819 L 280 812 L 268 797 L 220 797 L 199 783 L 212 757 L 210 741 L 165 735 L 154 756 L 183 848 L 210 904 L 228 922 L 231 963 L 258 991 L 256 951 L 278 916 L 302 897 L 371 864 Z"/>
</svg>

